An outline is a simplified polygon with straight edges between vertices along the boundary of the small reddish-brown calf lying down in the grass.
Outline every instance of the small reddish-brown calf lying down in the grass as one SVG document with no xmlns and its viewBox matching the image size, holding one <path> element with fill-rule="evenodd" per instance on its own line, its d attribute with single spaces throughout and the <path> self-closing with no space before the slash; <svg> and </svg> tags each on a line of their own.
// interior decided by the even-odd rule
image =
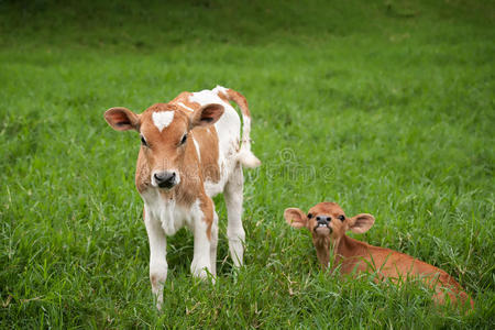
<svg viewBox="0 0 495 330">
<path fill-rule="evenodd" d="M 410 255 L 373 246 L 345 234 L 349 230 L 354 233 L 370 230 L 375 222 L 371 215 L 361 213 L 348 218 L 339 205 L 320 202 L 309 209 L 307 215 L 298 208 L 288 208 L 284 218 L 292 227 L 306 228 L 311 232 L 312 243 L 323 270 L 329 266 L 330 257 L 333 257 L 333 270 L 339 267 L 342 274 L 376 272 L 380 279 L 392 280 L 419 277 L 436 289 L 436 301 L 443 304 L 447 293 L 451 301 L 455 302 L 459 297 L 462 304 L 469 301 L 473 308 L 473 300 L 444 271 Z"/>
</svg>

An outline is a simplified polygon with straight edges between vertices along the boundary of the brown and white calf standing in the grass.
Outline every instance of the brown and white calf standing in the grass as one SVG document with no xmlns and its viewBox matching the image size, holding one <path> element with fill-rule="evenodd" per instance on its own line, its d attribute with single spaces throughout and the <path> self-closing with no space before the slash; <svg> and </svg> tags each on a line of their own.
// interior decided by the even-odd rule
<svg viewBox="0 0 495 330">
<path fill-rule="evenodd" d="M 241 120 L 229 101 L 242 111 Z M 111 108 L 107 122 L 118 131 L 140 133 L 135 185 L 144 201 L 150 240 L 150 279 L 163 302 L 167 276 L 166 237 L 184 226 L 194 233 L 190 271 L 205 278 L 216 274 L 218 216 L 212 197 L 223 193 L 229 250 L 235 266 L 243 263 L 242 167 L 261 163 L 251 152 L 251 117 L 245 98 L 228 88 L 182 92 L 168 103 L 156 103 L 136 114 Z"/>
</svg>

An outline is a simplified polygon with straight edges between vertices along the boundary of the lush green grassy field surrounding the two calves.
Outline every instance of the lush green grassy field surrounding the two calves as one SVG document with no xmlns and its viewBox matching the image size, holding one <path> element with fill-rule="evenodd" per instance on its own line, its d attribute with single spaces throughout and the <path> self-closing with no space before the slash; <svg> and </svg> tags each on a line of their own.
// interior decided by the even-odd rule
<svg viewBox="0 0 495 330">
<path fill-rule="evenodd" d="M 1 328 L 495 327 L 493 2 L 58 2 L 0 1 Z M 158 312 L 139 136 L 102 113 L 217 84 L 248 98 L 263 162 L 246 265 L 217 198 L 217 284 L 191 278 L 183 230 Z M 354 238 L 442 267 L 475 311 L 319 271 L 282 215 L 322 200 L 374 215 Z"/>
</svg>

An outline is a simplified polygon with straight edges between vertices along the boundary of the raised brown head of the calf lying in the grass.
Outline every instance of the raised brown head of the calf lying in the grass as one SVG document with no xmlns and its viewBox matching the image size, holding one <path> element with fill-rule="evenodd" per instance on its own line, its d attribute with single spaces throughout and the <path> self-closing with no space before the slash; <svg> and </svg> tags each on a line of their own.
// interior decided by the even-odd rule
<svg viewBox="0 0 495 330">
<path fill-rule="evenodd" d="M 329 249 L 340 242 L 346 231 L 364 233 L 372 228 L 375 218 L 361 213 L 349 218 L 338 204 L 320 202 L 305 213 L 299 208 L 288 208 L 284 218 L 294 228 L 306 228 L 311 232 L 312 243 L 323 267 L 329 263 Z"/>
</svg>

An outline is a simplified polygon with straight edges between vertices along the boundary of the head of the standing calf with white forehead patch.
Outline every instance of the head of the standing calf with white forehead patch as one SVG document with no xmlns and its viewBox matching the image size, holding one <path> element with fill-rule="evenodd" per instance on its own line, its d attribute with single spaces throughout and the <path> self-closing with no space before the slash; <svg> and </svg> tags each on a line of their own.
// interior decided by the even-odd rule
<svg viewBox="0 0 495 330">
<path fill-rule="evenodd" d="M 211 103 L 186 114 L 174 105 L 157 103 L 136 114 L 125 108 L 111 108 L 105 119 L 117 131 L 140 133 L 141 151 L 153 187 L 172 189 L 180 183 L 185 166 L 189 132 L 196 127 L 213 124 L 223 114 L 223 107 Z"/>
</svg>

